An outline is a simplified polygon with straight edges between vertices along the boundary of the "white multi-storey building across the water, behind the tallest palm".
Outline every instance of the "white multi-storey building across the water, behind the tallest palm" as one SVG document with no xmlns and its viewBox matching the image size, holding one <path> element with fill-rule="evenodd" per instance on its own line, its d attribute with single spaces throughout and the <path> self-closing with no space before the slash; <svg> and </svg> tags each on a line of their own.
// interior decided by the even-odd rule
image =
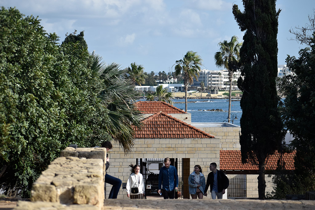
<svg viewBox="0 0 315 210">
<path fill-rule="evenodd" d="M 209 89 L 215 90 L 228 90 L 229 77 L 227 70 L 207 70 L 203 69 L 199 71 L 198 81 L 194 79 L 193 85 L 200 86 L 201 82 L 204 82 L 204 86 Z M 237 80 L 240 77 L 240 72 L 234 72 L 232 80 L 232 90 L 238 90 Z"/>
</svg>

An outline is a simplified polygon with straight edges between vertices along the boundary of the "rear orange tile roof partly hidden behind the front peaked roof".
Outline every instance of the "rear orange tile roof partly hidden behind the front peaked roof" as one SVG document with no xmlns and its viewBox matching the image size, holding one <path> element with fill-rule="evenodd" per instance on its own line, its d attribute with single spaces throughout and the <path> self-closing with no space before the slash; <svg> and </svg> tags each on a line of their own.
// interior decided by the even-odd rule
<svg viewBox="0 0 315 210">
<path fill-rule="evenodd" d="M 135 103 L 139 111 L 143 114 L 154 114 L 159 111 L 163 111 L 166 114 L 186 114 L 183 111 L 173 105 L 170 105 L 164 101 L 138 101 Z"/>
</svg>

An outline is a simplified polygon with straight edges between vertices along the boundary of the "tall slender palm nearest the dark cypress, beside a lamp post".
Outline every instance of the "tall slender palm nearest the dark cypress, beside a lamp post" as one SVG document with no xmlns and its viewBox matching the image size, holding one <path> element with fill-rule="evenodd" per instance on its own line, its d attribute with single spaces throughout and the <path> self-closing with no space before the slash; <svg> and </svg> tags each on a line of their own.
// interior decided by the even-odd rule
<svg viewBox="0 0 315 210">
<path fill-rule="evenodd" d="M 227 71 L 229 71 L 229 111 L 227 116 L 227 122 L 230 122 L 230 114 L 231 114 L 231 98 L 232 98 L 232 79 L 234 69 L 229 68 L 229 62 L 238 62 L 239 60 L 239 50 L 242 46 L 243 42 L 238 43 L 238 37 L 233 36 L 230 42 L 224 40 L 223 42 L 219 42 L 218 46 L 220 46 L 220 51 L 215 53 L 215 65 L 218 67 L 225 67 Z"/>
</svg>

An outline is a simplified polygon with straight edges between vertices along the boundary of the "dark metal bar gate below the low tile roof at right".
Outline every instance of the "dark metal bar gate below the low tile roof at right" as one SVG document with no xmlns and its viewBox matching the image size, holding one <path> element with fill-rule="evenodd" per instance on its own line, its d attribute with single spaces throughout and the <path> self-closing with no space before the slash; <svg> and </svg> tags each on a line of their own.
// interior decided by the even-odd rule
<svg viewBox="0 0 315 210">
<path fill-rule="evenodd" d="M 232 178 L 228 188 L 228 197 L 246 198 L 246 178 Z"/>
</svg>

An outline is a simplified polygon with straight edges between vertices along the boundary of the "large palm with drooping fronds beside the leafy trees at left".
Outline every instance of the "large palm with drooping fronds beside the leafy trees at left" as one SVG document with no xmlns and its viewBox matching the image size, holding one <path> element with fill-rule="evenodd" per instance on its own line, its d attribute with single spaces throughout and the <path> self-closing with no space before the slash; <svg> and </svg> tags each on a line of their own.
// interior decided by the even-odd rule
<svg viewBox="0 0 315 210">
<path fill-rule="evenodd" d="M 92 54 L 92 71 L 100 74 L 100 82 L 104 83 L 104 90 L 100 93 L 105 107 L 108 109 L 109 121 L 107 132 L 121 145 L 125 153 L 130 152 L 134 145 L 134 128 L 141 127 L 141 112 L 134 105 L 140 98 L 140 93 L 134 90 L 135 84 L 121 75 L 127 74 L 127 69 L 112 63 L 105 65 L 99 55 Z"/>
</svg>

